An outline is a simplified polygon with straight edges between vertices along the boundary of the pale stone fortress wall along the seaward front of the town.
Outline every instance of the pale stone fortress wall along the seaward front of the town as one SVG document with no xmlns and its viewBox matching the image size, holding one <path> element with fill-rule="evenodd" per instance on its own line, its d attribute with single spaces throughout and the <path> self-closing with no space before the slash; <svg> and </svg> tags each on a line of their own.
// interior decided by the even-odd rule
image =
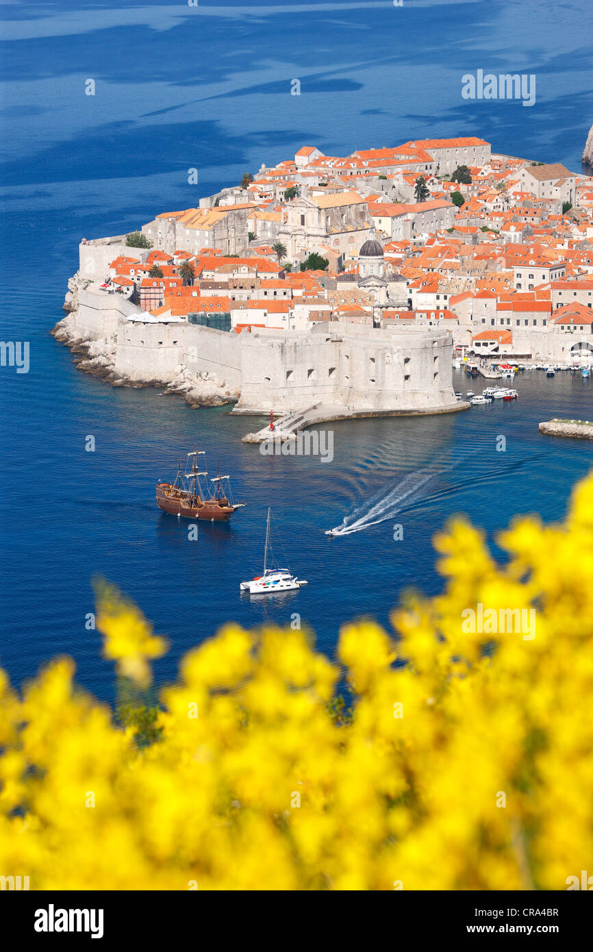
<svg viewBox="0 0 593 952">
<path fill-rule="evenodd" d="M 297 410 L 314 403 L 357 412 L 456 409 L 451 338 L 444 330 L 380 330 L 330 322 L 309 331 L 242 334 L 187 321 L 143 321 L 146 312 L 98 289 L 81 290 L 72 314 L 80 339 L 101 343 L 131 383 L 168 384 L 206 374 L 240 392 L 237 410 Z"/>
</svg>

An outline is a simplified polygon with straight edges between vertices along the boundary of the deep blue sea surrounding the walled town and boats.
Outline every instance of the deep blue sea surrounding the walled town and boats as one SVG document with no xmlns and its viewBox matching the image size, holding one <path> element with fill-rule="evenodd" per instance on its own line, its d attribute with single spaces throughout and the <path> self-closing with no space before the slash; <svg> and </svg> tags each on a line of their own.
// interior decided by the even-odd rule
<svg viewBox="0 0 593 952">
<path fill-rule="evenodd" d="M 324 463 L 260 455 L 241 443 L 254 421 L 229 407 L 109 387 L 78 371 L 49 330 L 82 237 L 196 206 L 303 145 L 344 155 L 479 135 L 580 170 L 593 122 L 591 22 L 590 0 L 0 5 L 2 338 L 30 342 L 29 373 L 0 368 L 0 662 L 15 684 L 69 654 L 80 684 L 112 696 L 112 666 L 85 627 L 94 576 L 168 635 L 161 684 L 229 620 L 287 625 L 298 614 L 329 656 L 347 620 L 388 624 L 406 588 L 440 589 L 431 539 L 454 513 L 483 526 L 499 555 L 496 534 L 517 514 L 563 517 L 591 446 L 544 438 L 537 425 L 590 418 L 593 382 L 525 373 L 512 404 L 337 423 Z M 536 74 L 535 106 L 463 100 L 462 75 L 477 69 Z M 460 373 L 455 386 L 471 382 Z M 155 506 L 154 485 L 194 443 L 248 505 L 189 540 L 188 524 Z M 309 583 L 281 601 L 239 595 L 261 568 L 267 506 Z M 344 520 L 352 531 L 325 535 Z"/>
</svg>

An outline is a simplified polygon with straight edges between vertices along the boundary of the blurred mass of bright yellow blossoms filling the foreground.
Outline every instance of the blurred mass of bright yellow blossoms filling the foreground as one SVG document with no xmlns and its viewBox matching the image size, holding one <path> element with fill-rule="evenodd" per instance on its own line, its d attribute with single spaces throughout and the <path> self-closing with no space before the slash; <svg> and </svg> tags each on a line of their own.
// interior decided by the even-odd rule
<svg viewBox="0 0 593 952">
<path fill-rule="evenodd" d="M 593 478 L 563 525 L 519 519 L 499 544 L 504 565 L 452 522 L 442 594 L 407 594 L 390 633 L 346 625 L 339 664 L 309 633 L 227 625 L 135 722 L 145 744 L 68 659 L 22 696 L 0 671 L 0 872 L 31 889 L 564 889 L 593 856 Z M 533 610 L 535 636 L 462 625 L 486 610 Z M 97 626 L 146 690 L 165 640 L 109 586 Z"/>
</svg>

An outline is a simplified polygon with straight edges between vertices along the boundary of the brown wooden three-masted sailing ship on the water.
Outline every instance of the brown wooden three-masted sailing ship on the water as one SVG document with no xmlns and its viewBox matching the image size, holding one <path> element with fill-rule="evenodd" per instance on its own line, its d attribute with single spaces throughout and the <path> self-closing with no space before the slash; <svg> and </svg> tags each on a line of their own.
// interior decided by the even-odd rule
<svg viewBox="0 0 593 952">
<path fill-rule="evenodd" d="M 185 472 L 180 460 L 174 483 L 156 484 L 157 506 L 173 516 L 227 522 L 233 512 L 246 504 L 232 502 L 228 476 L 221 476 L 219 472 L 208 479 L 208 470 L 198 468 L 198 456 L 205 457 L 206 453 L 194 446 L 193 452 L 188 453 Z"/>
</svg>

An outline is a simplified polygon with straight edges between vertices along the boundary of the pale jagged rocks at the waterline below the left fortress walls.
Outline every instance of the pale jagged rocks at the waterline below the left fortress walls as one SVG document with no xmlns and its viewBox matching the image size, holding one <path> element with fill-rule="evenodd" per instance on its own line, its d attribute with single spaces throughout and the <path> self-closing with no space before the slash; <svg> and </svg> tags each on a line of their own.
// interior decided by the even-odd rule
<svg viewBox="0 0 593 952">
<path fill-rule="evenodd" d="M 191 373 L 183 364 L 179 365 L 179 372 L 171 380 L 138 380 L 122 374 L 116 368 L 117 342 L 107 338 L 89 340 L 76 325 L 79 294 L 89 284 L 91 282 L 81 279 L 78 274 L 69 279 L 63 305 L 66 315 L 51 330 L 56 341 L 69 347 L 79 370 L 99 377 L 111 387 L 164 387 L 165 394 L 183 397 L 190 407 L 222 407 L 237 403 L 240 396 L 237 390 L 227 387 L 208 371 Z"/>
</svg>

